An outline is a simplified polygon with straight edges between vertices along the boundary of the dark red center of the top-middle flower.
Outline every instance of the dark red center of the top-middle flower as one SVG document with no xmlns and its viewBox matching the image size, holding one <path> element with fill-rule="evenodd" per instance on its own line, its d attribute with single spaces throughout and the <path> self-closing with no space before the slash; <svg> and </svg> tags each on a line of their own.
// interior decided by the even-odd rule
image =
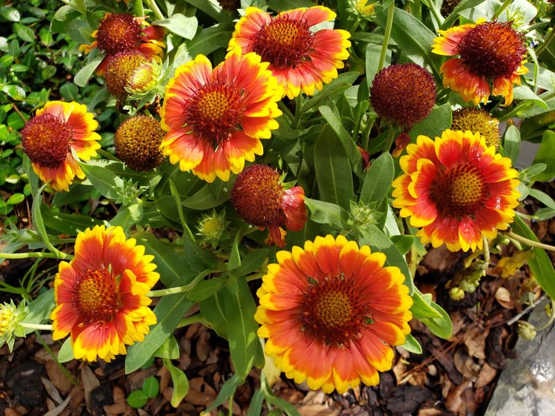
<svg viewBox="0 0 555 416">
<path fill-rule="evenodd" d="M 305 21 L 279 16 L 262 28 L 251 38 L 253 51 L 279 68 L 294 68 L 309 60 L 314 44 L 314 33 Z"/>
</svg>

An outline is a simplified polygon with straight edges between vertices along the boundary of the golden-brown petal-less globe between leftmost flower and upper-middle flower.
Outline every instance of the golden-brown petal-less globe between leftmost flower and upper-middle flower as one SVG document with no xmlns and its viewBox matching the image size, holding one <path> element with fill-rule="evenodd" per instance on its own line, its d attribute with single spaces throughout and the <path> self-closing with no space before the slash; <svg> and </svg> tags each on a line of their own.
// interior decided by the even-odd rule
<svg viewBox="0 0 555 416">
<path fill-rule="evenodd" d="M 135 171 L 152 171 L 164 161 L 160 150 L 163 137 L 164 130 L 154 117 L 131 117 L 121 123 L 114 135 L 116 155 Z"/>
</svg>

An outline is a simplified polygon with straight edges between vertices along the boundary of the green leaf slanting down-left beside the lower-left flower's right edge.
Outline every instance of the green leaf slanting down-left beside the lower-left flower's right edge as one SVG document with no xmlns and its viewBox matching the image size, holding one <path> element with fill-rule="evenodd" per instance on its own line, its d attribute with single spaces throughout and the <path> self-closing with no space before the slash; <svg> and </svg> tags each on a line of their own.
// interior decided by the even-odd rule
<svg viewBox="0 0 555 416">
<path fill-rule="evenodd" d="M 175 286 L 183 286 L 188 279 L 181 278 Z M 182 316 L 189 310 L 192 302 L 185 293 L 163 296 L 156 305 L 154 313 L 157 324 L 144 337 L 144 342 L 135 343 L 128 349 L 126 356 L 126 374 L 138 370 L 159 349 L 178 326 Z"/>
</svg>

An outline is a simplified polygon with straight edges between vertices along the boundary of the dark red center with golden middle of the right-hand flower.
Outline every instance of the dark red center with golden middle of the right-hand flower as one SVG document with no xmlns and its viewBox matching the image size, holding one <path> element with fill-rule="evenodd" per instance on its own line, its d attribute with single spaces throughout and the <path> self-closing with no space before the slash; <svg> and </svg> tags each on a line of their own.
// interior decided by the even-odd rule
<svg viewBox="0 0 555 416">
<path fill-rule="evenodd" d="M 432 198 L 450 217 L 474 214 L 484 205 L 488 187 L 484 176 L 472 164 L 448 168 L 436 178 Z"/>
</svg>

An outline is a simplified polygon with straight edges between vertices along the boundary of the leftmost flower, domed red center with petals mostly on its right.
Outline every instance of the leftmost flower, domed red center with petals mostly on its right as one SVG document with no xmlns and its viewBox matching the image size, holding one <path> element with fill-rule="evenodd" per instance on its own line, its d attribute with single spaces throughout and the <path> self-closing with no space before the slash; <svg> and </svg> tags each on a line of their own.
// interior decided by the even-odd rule
<svg viewBox="0 0 555 416">
<path fill-rule="evenodd" d="M 77 159 L 96 156 L 100 135 L 87 107 L 78 103 L 49 101 L 21 131 L 23 150 L 33 162 L 33 171 L 56 191 L 67 191 L 74 177 L 85 178 Z"/>
</svg>

